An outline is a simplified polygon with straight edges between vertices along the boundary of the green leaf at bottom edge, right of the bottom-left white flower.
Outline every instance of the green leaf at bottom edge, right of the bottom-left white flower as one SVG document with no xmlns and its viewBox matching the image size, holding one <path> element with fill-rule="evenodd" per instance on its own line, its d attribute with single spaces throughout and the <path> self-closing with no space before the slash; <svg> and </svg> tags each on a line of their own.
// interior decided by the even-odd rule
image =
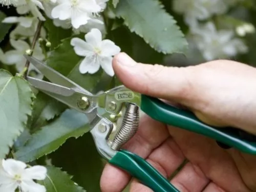
<svg viewBox="0 0 256 192">
<path fill-rule="evenodd" d="M 54 166 L 46 166 L 47 177 L 44 181 L 38 181 L 39 184 L 46 187 L 47 192 L 85 192 L 85 190 L 78 186 L 72 177 L 60 168 Z"/>
</svg>

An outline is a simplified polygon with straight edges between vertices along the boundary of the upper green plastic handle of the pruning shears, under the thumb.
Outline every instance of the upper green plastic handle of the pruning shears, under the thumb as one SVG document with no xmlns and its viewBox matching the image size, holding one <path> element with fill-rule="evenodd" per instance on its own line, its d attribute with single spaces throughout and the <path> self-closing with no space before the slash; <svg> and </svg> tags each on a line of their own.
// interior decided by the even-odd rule
<svg viewBox="0 0 256 192">
<path fill-rule="evenodd" d="M 235 129 L 230 129 L 230 127 L 218 129 L 209 126 L 200 121 L 193 113 L 177 109 L 157 98 L 141 95 L 141 110 L 155 120 L 205 135 L 242 152 L 256 155 L 255 137 L 252 139 L 253 141 L 250 141 L 241 138 Z"/>
</svg>

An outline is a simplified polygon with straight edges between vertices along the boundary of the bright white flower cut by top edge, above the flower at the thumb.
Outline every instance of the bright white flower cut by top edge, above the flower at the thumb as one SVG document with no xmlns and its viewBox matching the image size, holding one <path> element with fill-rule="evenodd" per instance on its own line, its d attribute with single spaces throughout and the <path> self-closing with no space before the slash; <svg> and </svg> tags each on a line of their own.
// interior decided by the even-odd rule
<svg viewBox="0 0 256 192">
<path fill-rule="evenodd" d="M 77 29 L 93 18 L 93 13 L 101 11 L 96 0 L 59 0 L 53 8 L 52 17 L 60 20 L 71 19 L 72 26 Z"/>
</svg>

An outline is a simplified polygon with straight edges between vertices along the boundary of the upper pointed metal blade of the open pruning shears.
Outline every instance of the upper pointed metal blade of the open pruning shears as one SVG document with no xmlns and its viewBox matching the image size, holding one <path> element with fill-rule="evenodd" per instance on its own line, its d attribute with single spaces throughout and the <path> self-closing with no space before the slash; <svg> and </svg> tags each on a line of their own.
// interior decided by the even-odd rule
<svg viewBox="0 0 256 192">
<path fill-rule="evenodd" d="M 45 65 L 42 61 L 36 59 L 35 57 L 31 57 L 28 55 L 24 55 L 24 57 L 32 63 L 35 68 L 37 68 L 45 77 L 47 77 L 51 82 L 55 84 L 59 84 L 63 87 L 72 88 L 74 90 L 80 90 L 88 95 L 93 95 L 89 91 L 83 89 L 78 84 L 70 80 L 69 78 L 65 77 L 64 75 L 60 74 L 59 72 L 55 71 L 54 69 L 50 68 L 49 66 Z M 41 89 L 41 88 L 40 88 Z"/>
</svg>

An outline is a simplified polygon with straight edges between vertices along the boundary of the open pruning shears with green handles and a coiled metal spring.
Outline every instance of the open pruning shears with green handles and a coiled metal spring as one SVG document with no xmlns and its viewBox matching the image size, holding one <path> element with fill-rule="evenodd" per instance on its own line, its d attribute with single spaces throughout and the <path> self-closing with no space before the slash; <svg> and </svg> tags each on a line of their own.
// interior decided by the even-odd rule
<svg viewBox="0 0 256 192">
<path fill-rule="evenodd" d="M 28 55 L 25 57 L 51 81 L 28 76 L 27 79 L 32 86 L 86 114 L 99 154 L 154 191 L 176 192 L 179 190 L 144 159 L 122 150 L 123 144 L 130 140 L 138 129 L 139 109 L 163 123 L 205 135 L 224 145 L 256 155 L 256 139 L 250 134 L 228 127 L 217 129 L 209 126 L 189 111 L 168 105 L 157 98 L 133 92 L 124 86 L 94 95 L 36 58 Z M 122 123 L 117 127 L 117 131 L 113 132 L 112 121 L 98 114 L 98 108 L 103 108 L 114 115 L 124 109 Z"/>
</svg>

